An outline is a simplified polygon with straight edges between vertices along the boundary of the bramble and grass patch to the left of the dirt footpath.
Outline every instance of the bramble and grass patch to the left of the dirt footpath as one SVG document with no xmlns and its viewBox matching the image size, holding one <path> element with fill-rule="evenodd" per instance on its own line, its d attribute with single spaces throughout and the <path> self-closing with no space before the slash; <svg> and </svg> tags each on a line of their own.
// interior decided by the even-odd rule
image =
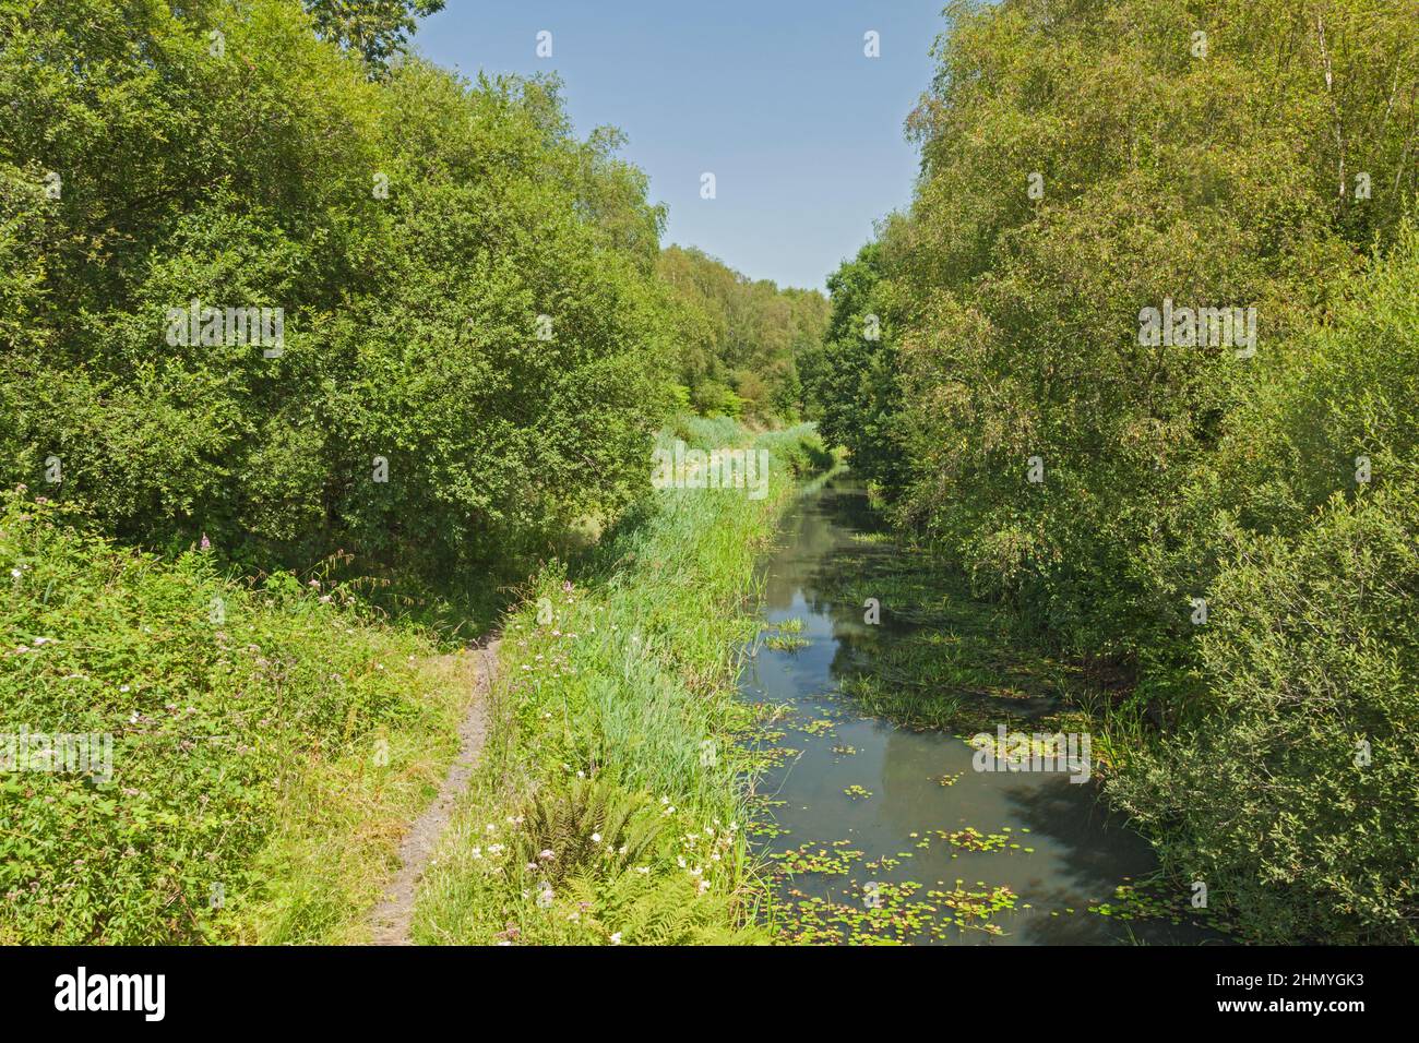
<svg viewBox="0 0 1419 1043">
<path fill-rule="evenodd" d="M 0 941 L 362 939 L 455 749 L 463 657 L 322 580 L 234 583 L 67 521 L 0 501 L 0 755 L 24 758 L 0 771 Z M 21 731 L 111 736 L 111 773 L 50 771 Z"/>
</svg>

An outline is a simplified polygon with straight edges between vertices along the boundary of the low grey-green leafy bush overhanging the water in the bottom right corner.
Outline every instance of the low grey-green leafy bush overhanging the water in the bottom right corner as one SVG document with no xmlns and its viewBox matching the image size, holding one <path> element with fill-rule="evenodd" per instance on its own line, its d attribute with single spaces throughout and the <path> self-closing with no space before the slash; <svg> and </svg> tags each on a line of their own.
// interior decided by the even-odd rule
<svg viewBox="0 0 1419 1043">
<path fill-rule="evenodd" d="M 1227 534 L 1195 722 L 1114 786 L 1257 941 L 1419 942 L 1416 477 Z"/>
</svg>

